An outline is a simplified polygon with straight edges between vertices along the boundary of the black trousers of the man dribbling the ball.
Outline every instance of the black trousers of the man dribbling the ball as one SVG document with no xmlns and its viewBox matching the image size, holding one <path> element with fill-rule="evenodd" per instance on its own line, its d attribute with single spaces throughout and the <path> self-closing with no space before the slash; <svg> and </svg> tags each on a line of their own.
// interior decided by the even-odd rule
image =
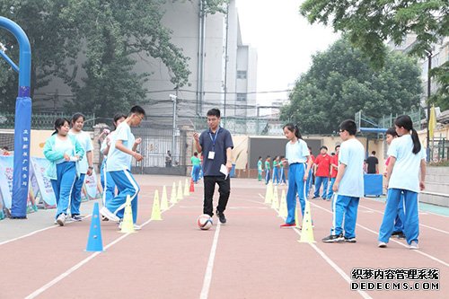
<svg viewBox="0 0 449 299">
<path fill-rule="evenodd" d="M 225 176 L 204 177 L 203 213 L 210 216 L 214 215 L 214 204 L 212 199 L 214 198 L 216 184 L 218 185 L 218 193 L 220 193 L 220 198 L 218 198 L 218 206 L 216 207 L 219 212 L 225 212 L 227 200 L 229 199 L 229 194 L 231 194 L 231 180 L 229 179 L 229 176 L 226 180 Z"/>
</svg>

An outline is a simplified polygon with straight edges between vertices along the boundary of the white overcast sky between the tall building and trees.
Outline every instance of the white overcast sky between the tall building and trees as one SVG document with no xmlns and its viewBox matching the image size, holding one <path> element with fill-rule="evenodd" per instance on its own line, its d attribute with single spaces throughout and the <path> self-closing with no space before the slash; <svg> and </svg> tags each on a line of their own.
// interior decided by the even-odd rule
<svg viewBox="0 0 449 299">
<path fill-rule="evenodd" d="M 258 52 L 258 92 L 290 89 L 311 65 L 312 56 L 338 39 L 330 27 L 310 25 L 299 14 L 304 0 L 235 0 L 242 41 Z M 286 93 L 259 94 L 259 104 Z"/>
</svg>

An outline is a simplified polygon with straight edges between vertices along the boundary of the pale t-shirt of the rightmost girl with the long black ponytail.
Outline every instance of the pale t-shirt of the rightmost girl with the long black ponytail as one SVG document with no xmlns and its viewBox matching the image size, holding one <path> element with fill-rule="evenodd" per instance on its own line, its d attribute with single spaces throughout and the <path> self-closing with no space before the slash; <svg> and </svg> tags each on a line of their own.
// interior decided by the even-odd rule
<svg viewBox="0 0 449 299">
<path fill-rule="evenodd" d="M 426 150 L 421 146 L 418 154 L 413 154 L 413 140 L 410 135 L 395 138 L 388 149 L 388 155 L 396 158 L 389 189 L 406 189 L 419 192 L 419 168 L 422 159 L 426 159 Z"/>
</svg>

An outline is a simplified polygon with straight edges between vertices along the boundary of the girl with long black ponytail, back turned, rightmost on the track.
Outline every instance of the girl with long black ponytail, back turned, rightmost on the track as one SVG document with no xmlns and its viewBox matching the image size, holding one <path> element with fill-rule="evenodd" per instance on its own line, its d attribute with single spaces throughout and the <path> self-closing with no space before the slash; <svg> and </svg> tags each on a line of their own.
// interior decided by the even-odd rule
<svg viewBox="0 0 449 299">
<path fill-rule="evenodd" d="M 387 246 L 392 235 L 401 194 L 404 198 L 404 228 L 409 249 L 418 249 L 419 220 L 418 192 L 425 189 L 426 152 L 422 148 L 417 131 L 408 115 L 394 120 L 398 138 L 388 149 L 390 162 L 386 172 L 387 204 L 379 230 L 379 247 Z"/>
</svg>

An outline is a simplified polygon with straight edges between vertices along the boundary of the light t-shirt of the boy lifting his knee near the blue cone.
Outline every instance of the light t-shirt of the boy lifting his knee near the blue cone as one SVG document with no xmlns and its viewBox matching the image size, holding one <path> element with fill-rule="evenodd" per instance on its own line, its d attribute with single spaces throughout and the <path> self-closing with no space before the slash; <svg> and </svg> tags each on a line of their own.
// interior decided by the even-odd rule
<svg viewBox="0 0 449 299">
<path fill-rule="evenodd" d="M 130 170 L 131 168 L 133 157 L 115 147 L 117 140 L 121 140 L 123 145 L 128 149 L 133 149 L 136 138 L 131 133 L 131 128 L 125 121 L 119 125 L 115 136 L 110 141 L 110 152 L 108 154 L 108 160 L 106 160 L 106 171 L 124 171 Z"/>
</svg>

